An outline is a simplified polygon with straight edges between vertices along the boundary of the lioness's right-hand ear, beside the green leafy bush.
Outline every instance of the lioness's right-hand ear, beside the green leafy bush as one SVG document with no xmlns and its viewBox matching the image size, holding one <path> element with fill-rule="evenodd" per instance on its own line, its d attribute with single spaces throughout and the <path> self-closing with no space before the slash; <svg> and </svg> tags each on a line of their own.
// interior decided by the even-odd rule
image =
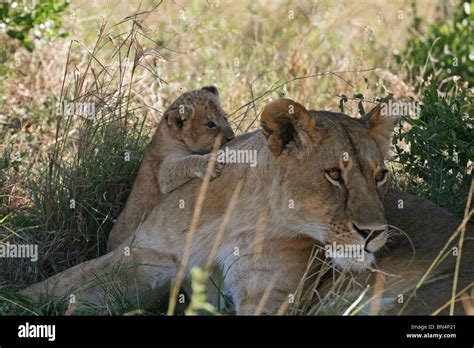
<svg viewBox="0 0 474 348">
<path fill-rule="evenodd" d="M 393 128 L 398 124 L 399 120 L 398 117 L 390 115 L 387 111 L 388 105 L 386 102 L 388 100 L 385 99 L 383 103 L 374 107 L 361 119 L 384 158 L 388 156 Z"/>
</svg>

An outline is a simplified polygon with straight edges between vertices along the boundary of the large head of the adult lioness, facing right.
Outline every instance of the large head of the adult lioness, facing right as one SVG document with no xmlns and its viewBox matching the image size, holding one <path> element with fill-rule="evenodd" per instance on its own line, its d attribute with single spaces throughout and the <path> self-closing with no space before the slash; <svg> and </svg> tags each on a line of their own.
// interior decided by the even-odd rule
<svg viewBox="0 0 474 348">
<path fill-rule="evenodd" d="M 384 158 L 395 123 L 379 107 L 354 119 L 288 99 L 262 113 L 278 168 L 273 204 L 289 228 L 324 243 L 340 267 L 367 268 L 387 240 Z"/>
</svg>

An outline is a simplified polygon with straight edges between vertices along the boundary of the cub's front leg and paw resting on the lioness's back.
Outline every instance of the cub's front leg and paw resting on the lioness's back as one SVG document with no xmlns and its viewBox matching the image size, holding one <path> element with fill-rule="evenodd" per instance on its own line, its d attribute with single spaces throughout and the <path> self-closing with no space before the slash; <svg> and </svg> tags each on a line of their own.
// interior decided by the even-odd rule
<svg viewBox="0 0 474 348">
<path fill-rule="evenodd" d="M 194 178 L 204 179 L 209 161 L 214 154 L 189 155 L 181 158 L 165 159 L 160 168 L 156 168 L 158 185 L 162 193 L 169 193 Z M 211 179 L 217 178 L 224 164 L 215 161 Z"/>
</svg>

